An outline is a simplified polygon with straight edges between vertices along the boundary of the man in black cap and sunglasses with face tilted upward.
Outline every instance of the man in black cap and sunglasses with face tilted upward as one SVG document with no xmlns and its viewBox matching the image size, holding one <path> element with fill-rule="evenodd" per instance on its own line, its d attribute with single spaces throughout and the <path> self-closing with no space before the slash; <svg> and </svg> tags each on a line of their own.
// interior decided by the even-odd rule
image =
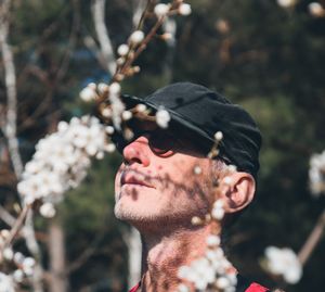
<svg viewBox="0 0 325 292">
<path fill-rule="evenodd" d="M 204 256 L 211 232 L 222 234 L 253 199 L 260 131 L 242 107 L 191 82 L 167 86 L 145 99 L 123 96 L 123 101 L 131 110 L 145 104 L 152 113 L 164 109 L 170 115 L 167 129 L 139 119 L 130 124 L 131 140 L 113 137 L 123 156 L 115 214 L 140 231 L 143 244 L 142 279 L 131 291 L 178 291 L 180 267 Z M 220 154 L 210 160 L 218 131 L 223 134 Z M 192 218 L 205 218 L 216 200 L 222 202 L 224 219 L 193 225 Z M 236 291 L 268 289 L 237 276 Z"/>
</svg>

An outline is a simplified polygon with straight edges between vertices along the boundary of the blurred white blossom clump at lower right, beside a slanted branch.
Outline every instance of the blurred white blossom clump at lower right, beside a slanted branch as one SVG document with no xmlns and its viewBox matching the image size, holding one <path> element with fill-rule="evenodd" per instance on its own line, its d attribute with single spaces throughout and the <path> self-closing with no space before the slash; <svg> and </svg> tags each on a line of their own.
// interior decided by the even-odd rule
<svg viewBox="0 0 325 292">
<path fill-rule="evenodd" d="M 297 283 L 302 276 L 302 266 L 290 249 L 269 246 L 265 249 L 265 268 L 274 275 L 280 275 L 288 283 Z"/>
</svg>

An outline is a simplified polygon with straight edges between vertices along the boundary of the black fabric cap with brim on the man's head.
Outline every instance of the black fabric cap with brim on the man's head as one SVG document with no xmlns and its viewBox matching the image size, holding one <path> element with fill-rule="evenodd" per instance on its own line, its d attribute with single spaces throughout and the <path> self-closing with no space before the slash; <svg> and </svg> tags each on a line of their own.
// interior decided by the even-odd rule
<svg viewBox="0 0 325 292">
<path fill-rule="evenodd" d="M 171 130 L 186 131 L 206 153 L 214 143 L 214 134 L 222 131 L 221 157 L 240 172 L 257 175 L 261 134 L 242 106 L 231 103 L 218 92 L 192 82 L 177 82 L 144 99 L 122 96 L 122 100 L 128 107 L 139 103 L 154 111 L 164 107 L 170 114 Z"/>
</svg>

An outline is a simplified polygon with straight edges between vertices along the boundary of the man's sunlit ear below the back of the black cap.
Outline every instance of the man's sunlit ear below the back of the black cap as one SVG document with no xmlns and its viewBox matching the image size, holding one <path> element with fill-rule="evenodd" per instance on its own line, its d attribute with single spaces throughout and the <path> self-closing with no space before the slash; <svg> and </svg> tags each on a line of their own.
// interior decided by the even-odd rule
<svg viewBox="0 0 325 292">
<path fill-rule="evenodd" d="M 235 213 L 250 204 L 256 182 L 250 174 L 234 172 L 221 178 L 220 187 L 224 212 Z"/>
</svg>

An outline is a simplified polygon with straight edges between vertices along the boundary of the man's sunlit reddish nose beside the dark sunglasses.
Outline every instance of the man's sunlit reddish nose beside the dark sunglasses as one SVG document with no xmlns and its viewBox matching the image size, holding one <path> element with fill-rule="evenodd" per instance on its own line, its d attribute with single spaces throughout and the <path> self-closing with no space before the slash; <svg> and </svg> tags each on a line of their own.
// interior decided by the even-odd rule
<svg viewBox="0 0 325 292">
<path fill-rule="evenodd" d="M 138 163 L 148 166 L 151 163 L 148 140 L 141 136 L 130 144 L 126 145 L 122 155 L 128 164 Z"/>
</svg>

